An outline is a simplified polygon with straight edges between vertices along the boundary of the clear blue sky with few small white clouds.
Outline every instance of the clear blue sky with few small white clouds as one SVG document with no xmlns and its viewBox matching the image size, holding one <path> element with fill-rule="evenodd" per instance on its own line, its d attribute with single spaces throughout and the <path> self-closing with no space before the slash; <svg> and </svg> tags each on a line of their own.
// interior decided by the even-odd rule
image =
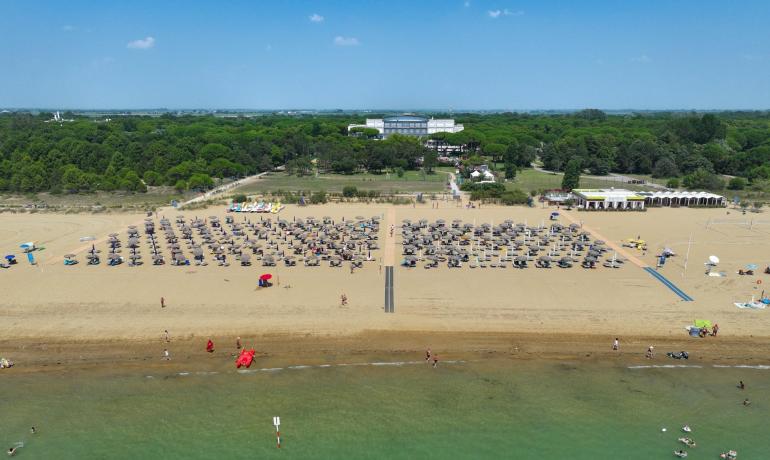
<svg viewBox="0 0 770 460">
<path fill-rule="evenodd" d="M 767 0 L 0 0 L 0 36 L 0 107 L 770 108 Z"/>
</svg>

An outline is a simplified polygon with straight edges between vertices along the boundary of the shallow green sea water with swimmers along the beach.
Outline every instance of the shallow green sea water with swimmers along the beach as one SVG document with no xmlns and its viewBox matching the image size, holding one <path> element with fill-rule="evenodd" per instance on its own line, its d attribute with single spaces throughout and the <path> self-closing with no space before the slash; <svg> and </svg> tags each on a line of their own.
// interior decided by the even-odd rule
<svg viewBox="0 0 770 460">
<path fill-rule="evenodd" d="M 42 459 L 650 459 L 675 458 L 689 423 L 698 443 L 690 459 L 727 449 L 759 459 L 770 458 L 768 390 L 770 368 L 506 360 L 187 375 L 4 372 L 0 447 L 23 441 L 18 458 Z"/>
</svg>

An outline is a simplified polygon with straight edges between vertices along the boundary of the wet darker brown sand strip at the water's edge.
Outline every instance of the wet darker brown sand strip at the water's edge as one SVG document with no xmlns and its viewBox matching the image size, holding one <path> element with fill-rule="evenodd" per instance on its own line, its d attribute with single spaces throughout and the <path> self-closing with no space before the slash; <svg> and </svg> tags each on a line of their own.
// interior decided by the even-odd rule
<svg viewBox="0 0 770 460">
<path fill-rule="evenodd" d="M 340 363 L 412 362 L 425 359 L 431 348 L 440 361 L 580 362 L 589 364 L 646 365 L 767 365 L 763 351 L 770 337 L 673 338 L 620 337 L 620 351 L 611 350 L 612 339 L 593 334 L 478 333 L 365 331 L 355 335 L 265 334 L 243 336 L 244 348 L 257 350 L 254 368 L 319 366 Z M 157 340 L 69 340 L 44 338 L 2 340 L 0 350 L 15 366 L 2 375 L 49 372 L 99 372 L 134 370 L 235 371 L 235 337 L 213 336 L 215 352 L 207 353 L 207 337 Z M 654 345 L 656 357 L 646 359 Z M 165 348 L 171 360 L 164 361 Z M 666 352 L 685 350 L 689 360 L 668 358 Z"/>
</svg>

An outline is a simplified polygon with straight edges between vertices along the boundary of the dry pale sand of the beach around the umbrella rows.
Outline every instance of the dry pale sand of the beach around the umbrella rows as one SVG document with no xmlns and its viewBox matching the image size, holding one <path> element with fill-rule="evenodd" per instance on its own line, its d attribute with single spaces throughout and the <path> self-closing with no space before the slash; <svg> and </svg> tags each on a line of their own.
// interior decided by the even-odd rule
<svg viewBox="0 0 770 460">
<path fill-rule="evenodd" d="M 651 209 L 644 213 L 587 213 L 562 211 L 599 233 L 608 243 L 620 244 L 641 236 L 649 251 L 626 249 L 643 263 L 654 266 L 655 256 L 670 247 L 677 256 L 661 269 L 669 280 L 695 300 L 683 302 L 661 282 L 633 263 L 622 268 L 598 267 L 524 270 L 476 268 L 449 269 L 446 264 L 426 270 L 395 268 L 395 314 L 385 314 L 383 259 L 401 260 L 398 226 L 402 219 L 462 219 L 469 223 L 512 219 L 528 225 L 549 224 L 550 208 L 458 208 L 452 203 L 418 207 L 336 204 L 297 208 L 288 206 L 281 218 L 328 215 L 335 220 L 356 215 L 382 216 L 381 249 L 373 262 L 351 274 L 347 267 L 263 268 L 233 264 L 153 266 L 126 264 L 108 267 L 85 264 L 89 242 L 106 249 L 104 237 L 118 232 L 125 239 L 126 226 L 140 224 L 144 215 L 4 214 L 0 216 L 0 250 L 14 252 L 18 245 L 34 241 L 45 247 L 35 253 L 38 264 L 23 257 L 18 265 L 0 273 L 4 295 L 0 299 L 0 336 L 6 340 L 103 341 L 156 339 L 166 329 L 176 337 L 246 336 L 262 334 L 351 335 L 363 331 L 433 332 L 526 332 L 592 334 L 599 336 L 669 336 L 686 338 L 684 327 L 693 319 L 720 324 L 721 335 L 768 336 L 770 319 L 764 310 L 740 310 L 733 302 L 759 296 L 769 280 L 762 274 L 767 264 L 770 225 L 752 228 L 739 222 L 762 214 L 740 215 L 725 209 Z M 208 209 L 160 212 L 169 218 L 218 215 Z M 261 214 L 233 214 L 236 221 L 268 218 Z M 275 218 L 275 216 L 272 216 Z M 710 220 L 735 223 L 706 227 Z M 389 225 L 396 237 L 388 235 Z M 685 254 L 692 237 L 689 262 Z M 392 251 L 392 252 L 391 252 Z M 67 267 L 62 256 L 75 252 L 80 263 Z M 717 271 L 724 278 L 704 275 L 709 255 L 721 259 Z M 746 264 L 759 265 L 757 275 L 738 276 Z M 261 273 L 270 272 L 275 285 L 256 289 Z M 340 305 L 340 295 L 349 298 Z M 161 309 L 160 298 L 167 307 Z"/>
</svg>

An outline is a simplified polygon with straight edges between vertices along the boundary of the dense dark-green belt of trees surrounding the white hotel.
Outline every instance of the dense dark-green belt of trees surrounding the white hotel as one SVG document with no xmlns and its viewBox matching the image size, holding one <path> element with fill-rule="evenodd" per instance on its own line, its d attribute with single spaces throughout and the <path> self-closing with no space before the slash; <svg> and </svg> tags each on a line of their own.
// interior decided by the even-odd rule
<svg viewBox="0 0 770 460">
<path fill-rule="evenodd" d="M 377 117 L 378 115 L 369 115 Z M 435 114 L 436 117 L 448 116 Z M 71 116 L 65 115 L 65 118 Z M 0 115 L 0 191 L 144 191 L 148 186 L 205 189 L 285 165 L 292 174 L 343 174 L 435 166 L 435 152 L 409 137 L 371 139 L 347 126 L 351 115 L 219 118 L 121 116 L 110 121 L 51 114 Z M 432 137 L 465 146 L 471 162 L 504 164 L 505 175 L 539 158 L 546 169 L 567 164 L 608 172 L 682 178 L 693 188 L 719 188 L 718 175 L 770 178 L 767 113 L 607 115 L 459 114 L 465 131 Z"/>
</svg>

